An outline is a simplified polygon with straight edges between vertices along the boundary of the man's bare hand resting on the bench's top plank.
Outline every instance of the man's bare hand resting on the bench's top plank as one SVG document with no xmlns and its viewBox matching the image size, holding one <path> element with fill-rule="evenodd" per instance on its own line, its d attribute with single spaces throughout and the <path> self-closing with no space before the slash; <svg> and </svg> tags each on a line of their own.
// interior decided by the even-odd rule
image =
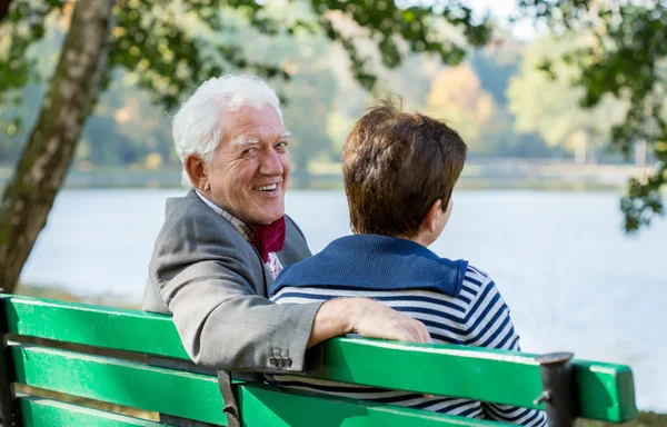
<svg viewBox="0 0 667 427">
<path fill-rule="evenodd" d="M 367 338 L 432 342 L 426 326 L 368 298 L 340 298 L 322 304 L 315 316 L 308 347 L 357 332 Z"/>
</svg>

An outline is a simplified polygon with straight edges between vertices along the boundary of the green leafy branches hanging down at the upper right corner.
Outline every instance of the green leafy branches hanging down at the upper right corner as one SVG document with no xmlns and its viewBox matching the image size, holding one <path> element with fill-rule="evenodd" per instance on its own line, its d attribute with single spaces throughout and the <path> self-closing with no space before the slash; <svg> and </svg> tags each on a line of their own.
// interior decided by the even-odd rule
<svg viewBox="0 0 667 427">
<path fill-rule="evenodd" d="M 667 3 L 661 0 L 520 0 L 522 13 L 549 26 L 554 34 L 586 31 L 596 43 L 564 57 L 580 69 L 574 81 L 584 88 L 580 103 L 597 106 L 606 95 L 629 100 L 623 122 L 611 129 L 611 147 L 626 157 L 646 141 L 656 160 L 646 180 L 630 179 L 621 199 L 627 231 L 664 215 L 667 183 Z M 549 72 L 551 64 L 544 63 Z"/>
</svg>

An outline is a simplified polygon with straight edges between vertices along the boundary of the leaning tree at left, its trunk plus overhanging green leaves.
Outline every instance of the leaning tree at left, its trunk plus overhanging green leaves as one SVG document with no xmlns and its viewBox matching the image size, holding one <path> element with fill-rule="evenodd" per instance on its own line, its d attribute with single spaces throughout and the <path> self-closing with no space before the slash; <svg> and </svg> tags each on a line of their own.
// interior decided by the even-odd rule
<svg viewBox="0 0 667 427">
<path fill-rule="evenodd" d="M 44 21 L 57 14 L 71 19 L 60 60 L 44 97 L 37 125 L 0 205 L 0 286 L 18 281 L 34 241 L 47 221 L 63 182 L 81 128 L 116 70 L 133 72 L 138 86 L 152 100 L 170 109 L 210 77 L 223 71 L 247 71 L 262 77 L 290 77 L 285 63 L 256 60 L 249 40 L 235 37 L 235 26 L 222 18 L 231 10 L 259 32 L 269 36 L 322 31 L 348 54 L 352 76 L 372 89 L 371 58 L 358 37 L 370 40 L 388 68 L 405 54 L 429 52 L 446 63 L 458 63 L 466 43 L 482 44 L 490 33 L 485 20 L 457 0 L 436 6 L 410 6 L 377 0 L 13 0 L 0 27 L 0 126 L 16 127 L 8 105 L 20 102 L 27 83 L 42 78 L 37 59 L 27 54 L 44 37 Z M 298 7 L 307 4 L 307 13 Z M 280 8 L 295 13 L 271 13 Z M 290 9 L 291 7 L 291 9 Z M 73 10 L 71 13 L 67 13 Z M 6 13 L 6 9 L 0 9 Z M 4 16 L 0 16 L 0 19 Z M 351 24 L 345 31 L 341 23 Z M 452 41 L 457 28 L 459 41 Z M 202 33 L 227 37 L 202 37 Z M 0 108 L 2 108 L 0 107 Z M 11 256 L 9 256 L 11 255 Z"/>
</svg>

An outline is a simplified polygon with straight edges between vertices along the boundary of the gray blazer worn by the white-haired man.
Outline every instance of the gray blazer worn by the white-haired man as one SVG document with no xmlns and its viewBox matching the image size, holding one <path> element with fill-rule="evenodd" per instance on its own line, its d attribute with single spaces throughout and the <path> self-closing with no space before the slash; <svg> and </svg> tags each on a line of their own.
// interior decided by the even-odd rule
<svg viewBox="0 0 667 427">
<path fill-rule="evenodd" d="M 306 346 L 320 302 L 276 305 L 259 252 L 195 191 L 167 200 L 156 240 L 143 309 L 173 316 L 199 366 L 236 371 L 306 369 Z M 303 234 L 286 216 L 283 266 L 310 256 Z"/>
</svg>

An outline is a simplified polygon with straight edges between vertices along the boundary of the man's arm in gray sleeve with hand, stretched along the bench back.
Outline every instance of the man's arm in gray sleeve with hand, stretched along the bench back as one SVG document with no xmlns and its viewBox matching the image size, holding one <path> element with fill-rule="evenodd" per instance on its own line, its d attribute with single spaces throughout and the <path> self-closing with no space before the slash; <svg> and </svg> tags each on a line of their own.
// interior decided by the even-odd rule
<svg viewBox="0 0 667 427">
<path fill-rule="evenodd" d="M 256 255 L 225 241 L 217 219 L 198 216 L 196 221 L 172 222 L 168 238 L 158 239 L 151 264 L 196 364 L 237 371 L 302 371 L 308 346 L 346 332 L 430 339 L 422 324 L 369 299 L 276 305 L 258 296 L 247 262 Z"/>
</svg>

